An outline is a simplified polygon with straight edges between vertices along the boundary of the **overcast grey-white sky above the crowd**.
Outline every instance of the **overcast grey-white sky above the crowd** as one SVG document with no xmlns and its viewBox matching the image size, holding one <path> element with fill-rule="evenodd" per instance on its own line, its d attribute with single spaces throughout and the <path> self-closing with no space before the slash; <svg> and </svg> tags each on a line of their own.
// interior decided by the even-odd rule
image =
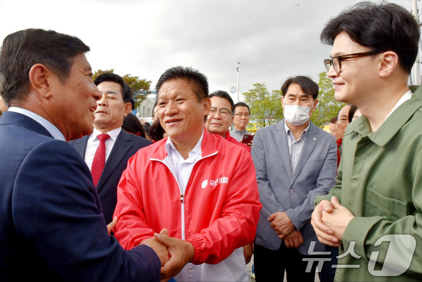
<svg viewBox="0 0 422 282">
<path fill-rule="evenodd" d="M 93 70 L 157 79 L 172 66 L 192 66 L 210 92 L 265 83 L 279 89 L 291 75 L 317 82 L 329 46 L 319 41 L 328 19 L 354 0 L 72 0 L 3 1 L 0 37 L 25 28 L 52 29 L 91 47 Z M 411 0 L 390 0 L 410 11 Z M 419 1 L 418 1 L 419 2 Z M 418 3 L 421 10 L 421 3 Z M 237 101 L 237 94 L 232 95 Z"/>
</svg>

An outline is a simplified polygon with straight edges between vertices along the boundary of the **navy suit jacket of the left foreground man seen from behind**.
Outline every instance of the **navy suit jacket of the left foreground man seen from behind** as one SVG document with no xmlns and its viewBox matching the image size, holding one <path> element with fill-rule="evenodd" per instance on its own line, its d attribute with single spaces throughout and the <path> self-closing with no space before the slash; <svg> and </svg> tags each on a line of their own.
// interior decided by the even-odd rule
<svg viewBox="0 0 422 282">
<path fill-rule="evenodd" d="M 160 280 L 153 249 L 125 251 L 108 235 L 91 173 L 70 144 L 5 112 L 0 160 L 1 280 Z"/>
</svg>

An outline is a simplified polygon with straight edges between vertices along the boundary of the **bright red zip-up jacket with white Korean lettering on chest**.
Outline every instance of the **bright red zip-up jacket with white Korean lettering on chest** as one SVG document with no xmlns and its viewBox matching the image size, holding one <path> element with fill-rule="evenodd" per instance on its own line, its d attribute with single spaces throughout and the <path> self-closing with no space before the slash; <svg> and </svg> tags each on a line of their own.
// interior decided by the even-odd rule
<svg viewBox="0 0 422 282">
<path fill-rule="evenodd" d="M 251 155 L 204 130 L 185 193 L 166 162 L 167 138 L 128 161 L 117 188 L 115 237 L 132 249 L 163 228 L 192 243 L 194 264 L 216 264 L 253 242 L 262 207 Z"/>
</svg>

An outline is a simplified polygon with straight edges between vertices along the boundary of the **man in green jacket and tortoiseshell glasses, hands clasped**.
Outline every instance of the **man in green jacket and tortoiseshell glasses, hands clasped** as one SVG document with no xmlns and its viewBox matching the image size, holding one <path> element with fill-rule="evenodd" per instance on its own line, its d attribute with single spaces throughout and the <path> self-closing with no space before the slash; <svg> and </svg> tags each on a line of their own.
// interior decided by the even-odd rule
<svg viewBox="0 0 422 282">
<path fill-rule="evenodd" d="M 358 3 L 322 31 L 335 99 L 362 113 L 312 214 L 319 241 L 340 247 L 336 281 L 422 279 L 422 88 L 407 85 L 419 36 L 392 3 Z"/>
</svg>

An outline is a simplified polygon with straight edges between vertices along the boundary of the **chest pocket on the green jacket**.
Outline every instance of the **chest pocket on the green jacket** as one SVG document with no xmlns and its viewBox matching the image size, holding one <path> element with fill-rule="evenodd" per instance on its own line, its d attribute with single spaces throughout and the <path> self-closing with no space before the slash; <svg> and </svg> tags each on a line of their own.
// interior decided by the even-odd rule
<svg viewBox="0 0 422 282">
<path fill-rule="evenodd" d="M 395 222 L 407 215 L 406 203 L 384 197 L 371 188 L 366 188 L 366 207 L 364 216 L 385 216 Z"/>
</svg>

